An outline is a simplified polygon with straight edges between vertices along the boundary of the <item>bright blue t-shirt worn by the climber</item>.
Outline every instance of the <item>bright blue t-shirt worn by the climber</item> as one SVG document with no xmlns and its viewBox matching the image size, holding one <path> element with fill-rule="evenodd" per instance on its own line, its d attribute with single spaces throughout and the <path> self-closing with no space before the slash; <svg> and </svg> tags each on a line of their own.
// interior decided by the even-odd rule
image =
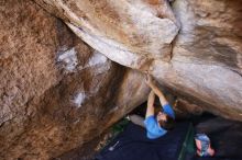
<svg viewBox="0 0 242 160">
<path fill-rule="evenodd" d="M 165 114 L 175 118 L 175 113 L 168 103 L 163 106 L 163 111 Z M 150 138 L 150 139 L 158 138 L 167 133 L 167 130 L 160 127 L 157 119 L 155 118 L 154 115 L 146 117 L 144 119 L 144 125 L 147 130 L 147 138 Z"/>
</svg>

